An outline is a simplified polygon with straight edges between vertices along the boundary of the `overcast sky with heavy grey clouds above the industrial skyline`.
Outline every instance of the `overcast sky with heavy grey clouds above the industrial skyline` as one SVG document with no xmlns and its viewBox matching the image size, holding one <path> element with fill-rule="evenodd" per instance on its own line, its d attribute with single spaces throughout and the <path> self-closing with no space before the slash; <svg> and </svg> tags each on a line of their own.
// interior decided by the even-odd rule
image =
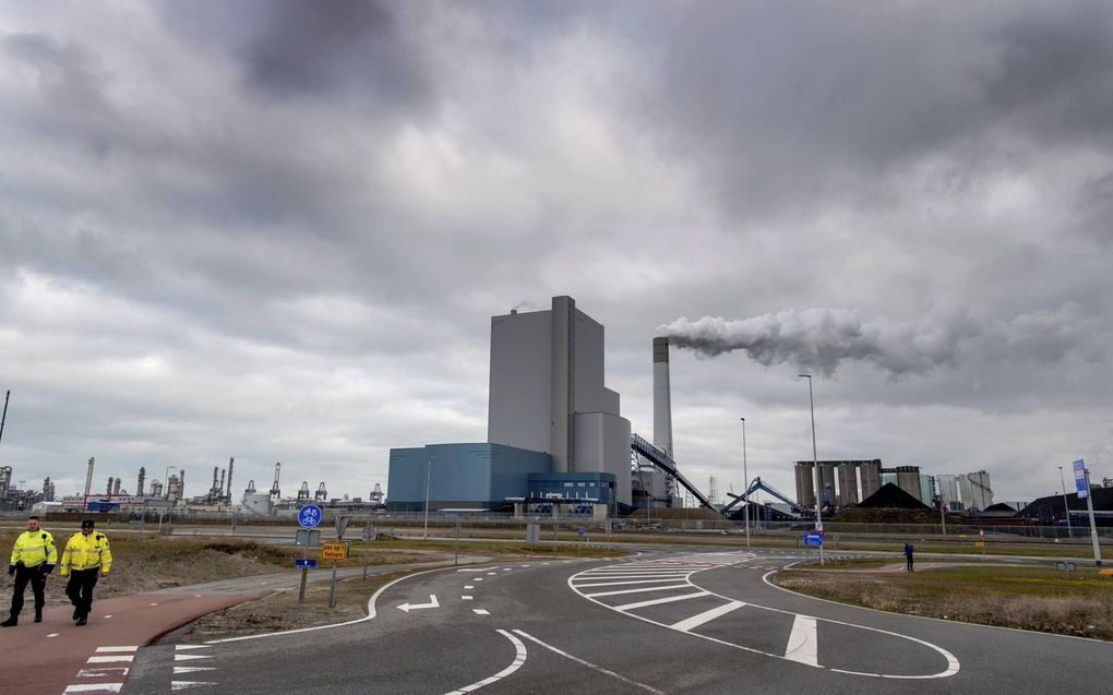
<svg viewBox="0 0 1113 695">
<path fill-rule="evenodd" d="M 385 487 L 571 295 L 677 459 L 1113 477 L 1106 2 L 0 2 L 0 463 Z"/>
</svg>

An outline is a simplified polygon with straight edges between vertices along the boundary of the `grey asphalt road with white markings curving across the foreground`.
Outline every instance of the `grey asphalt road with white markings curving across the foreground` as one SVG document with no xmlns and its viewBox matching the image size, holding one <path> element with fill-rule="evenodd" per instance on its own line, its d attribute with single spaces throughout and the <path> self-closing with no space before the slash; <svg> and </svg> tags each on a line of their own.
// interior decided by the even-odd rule
<svg viewBox="0 0 1113 695">
<path fill-rule="evenodd" d="M 802 554 L 801 554 L 802 555 Z M 434 569 L 349 624 L 138 651 L 127 694 L 1104 692 L 1113 645 L 778 589 L 784 550 Z"/>
</svg>

